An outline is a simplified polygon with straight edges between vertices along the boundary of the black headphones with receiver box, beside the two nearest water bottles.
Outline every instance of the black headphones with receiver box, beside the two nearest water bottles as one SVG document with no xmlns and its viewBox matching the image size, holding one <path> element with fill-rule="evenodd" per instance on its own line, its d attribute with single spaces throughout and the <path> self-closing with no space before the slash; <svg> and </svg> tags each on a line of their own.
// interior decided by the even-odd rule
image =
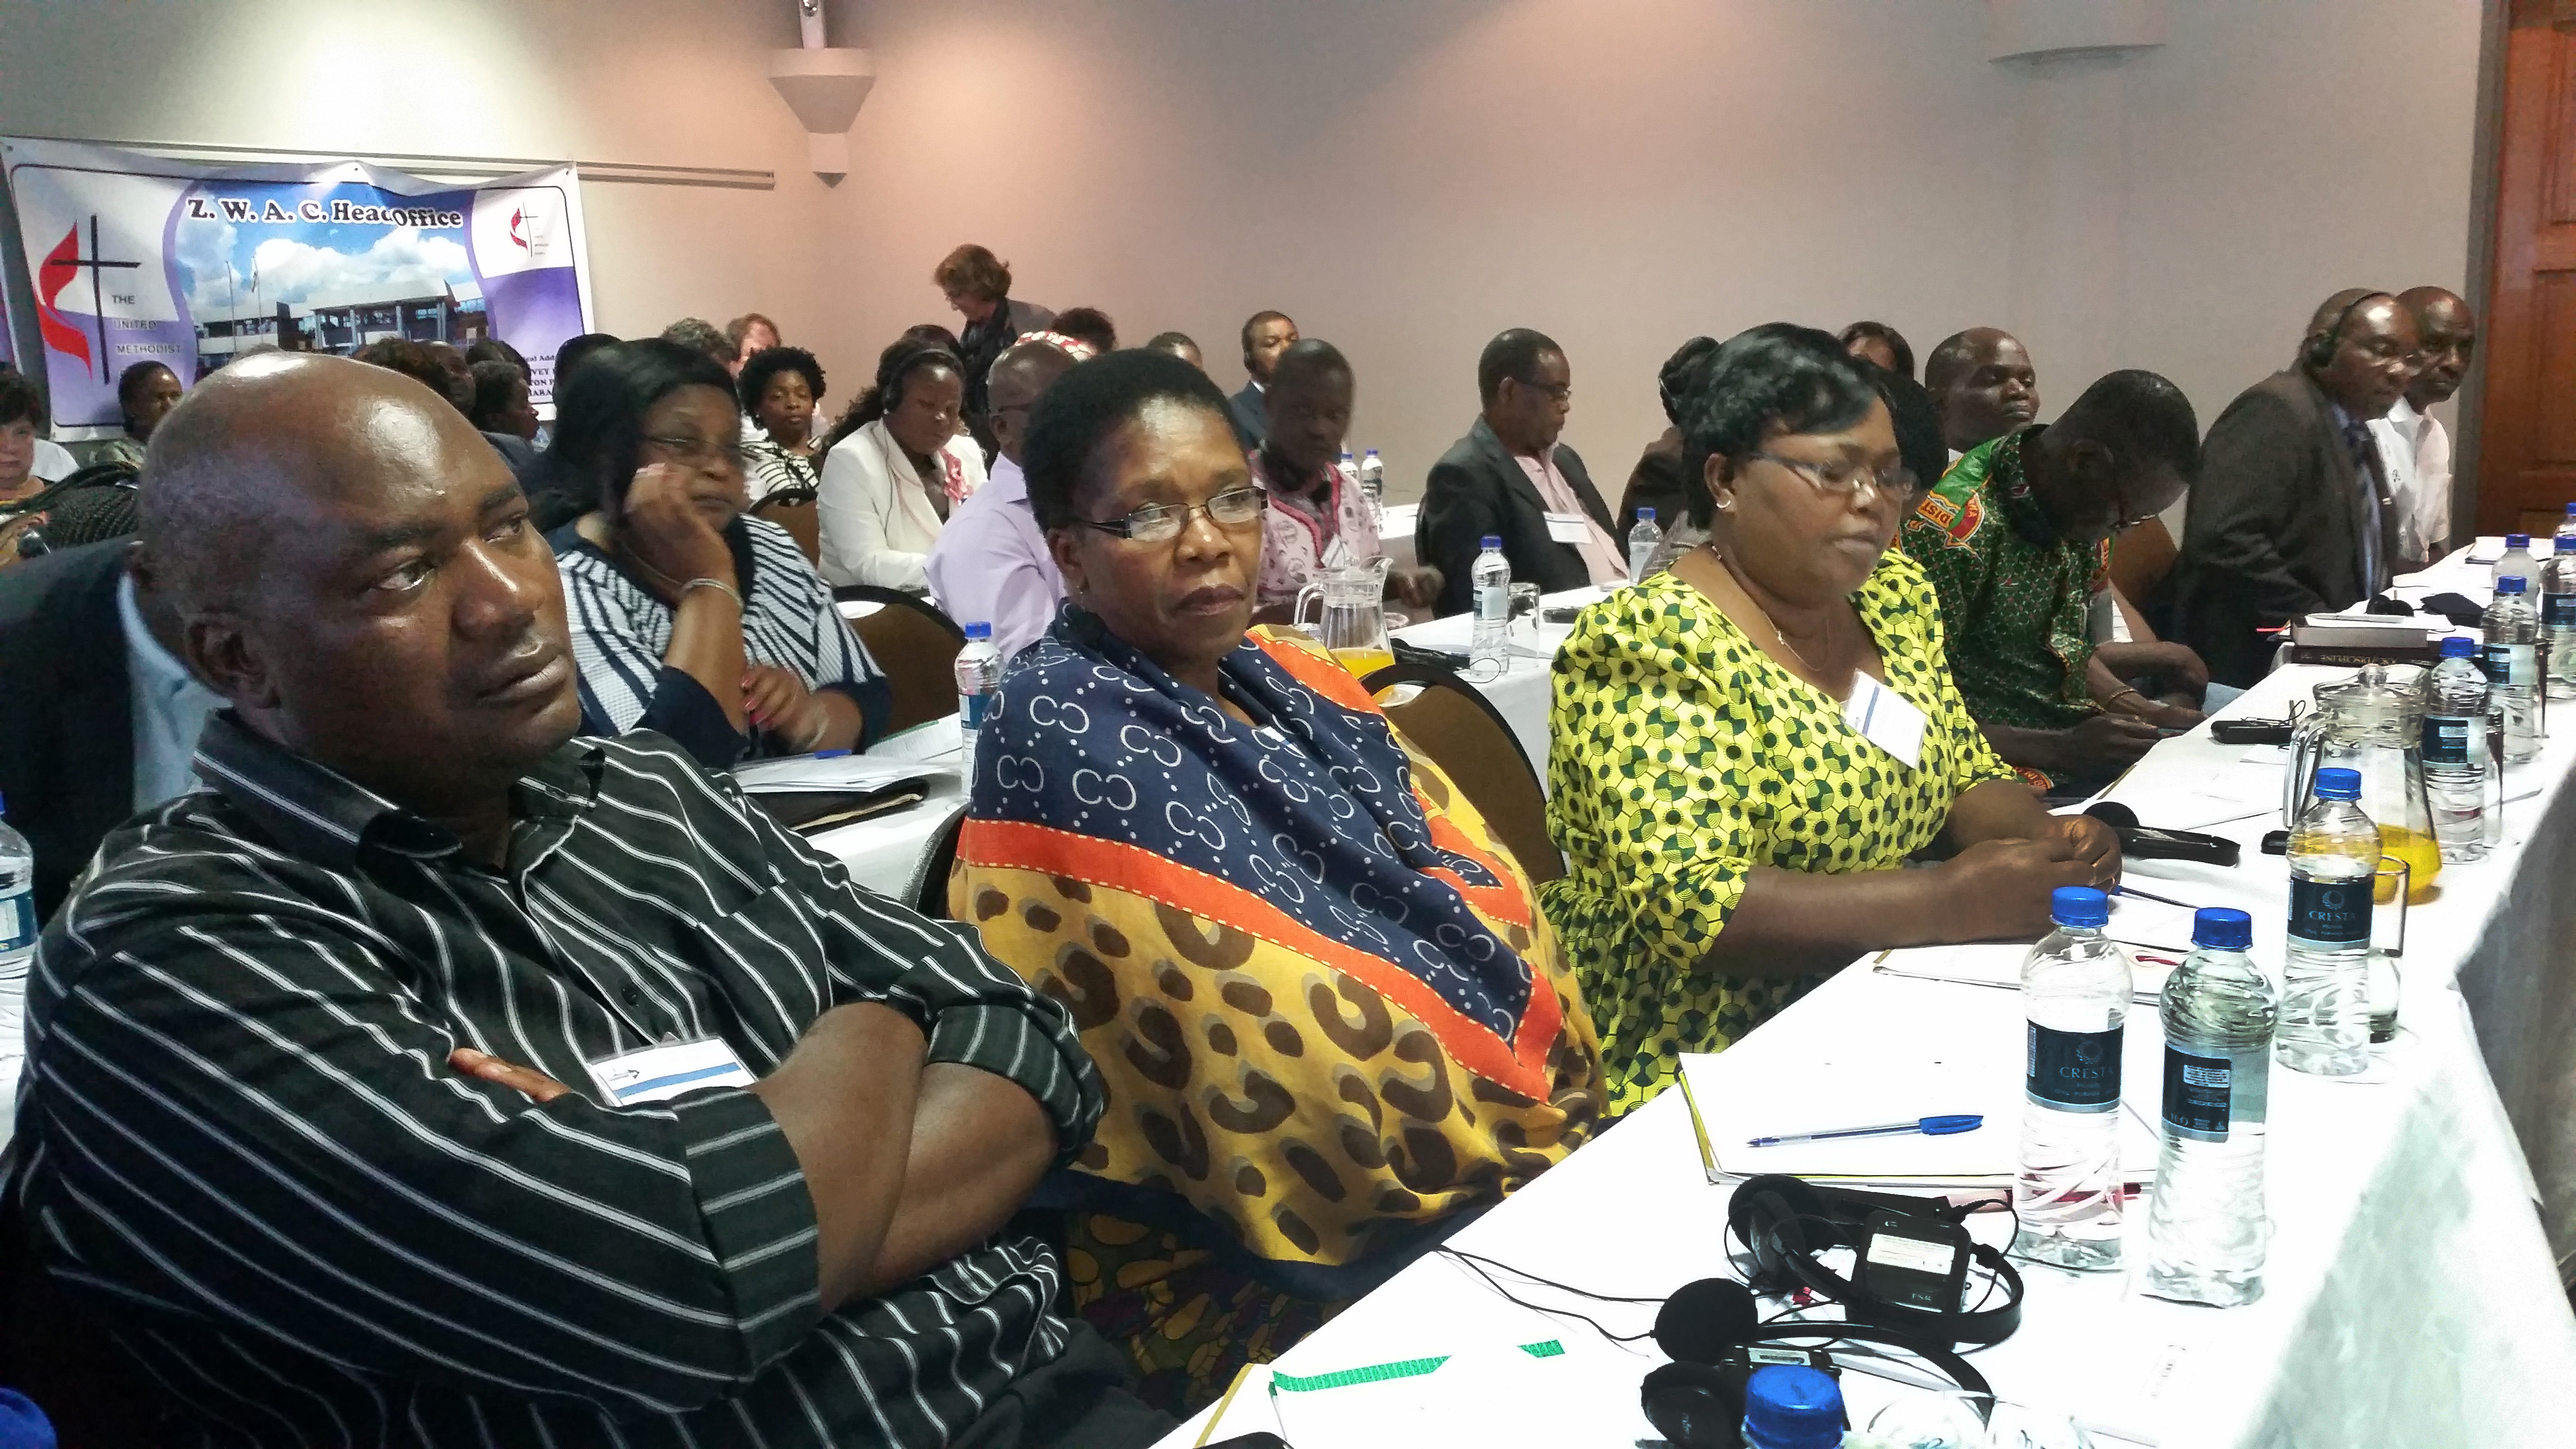
<svg viewBox="0 0 2576 1449">
<path fill-rule="evenodd" d="M 1965 1243 L 1968 1256 L 2002 1284 L 2004 1302 L 1973 1312 L 1893 1302 L 1816 1261 L 1816 1253 L 1826 1248 L 1862 1250 L 1870 1238 L 1865 1227 L 1870 1214 L 1899 1212 L 1922 1220 L 1924 1207 L 1929 1204 L 1922 1199 L 1819 1189 L 1801 1178 L 1759 1176 L 1747 1178 L 1736 1189 L 1736 1196 L 1726 1201 L 1726 1227 L 1754 1256 L 1752 1287 L 1757 1292 L 1814 1289 L 1839 1302 L 1852 1323 L 1899 1328 L 1942 1346 L 2002 1343 L 2012 1338 L 2012 1330 L 2022 1325 L 2022 1274 L 1984 1243 Z M 1965 1217 L 1965 1212 L 1958 1217 Z M 1932 1220 L 1955 1230 L 1958 1217 L 1935 1214 Z"/>
</svg>

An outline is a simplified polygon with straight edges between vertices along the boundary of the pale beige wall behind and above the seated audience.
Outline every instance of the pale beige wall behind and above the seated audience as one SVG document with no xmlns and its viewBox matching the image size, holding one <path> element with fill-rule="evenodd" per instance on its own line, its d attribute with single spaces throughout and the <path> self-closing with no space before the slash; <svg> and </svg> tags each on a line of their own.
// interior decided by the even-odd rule
<svg viewBox="0 0 2576 1449">
<path fill-rule="evenodd" d="M 956 322 L 927 273 L 981 240 L 1023 297 L 1198 335 L 1229 389 L 1242 317 L 1293 312 L 1352 356 L 1399 495 L 1471 420 L 1481 343 L 1535 325 L 1615 492 L 1692 333 L 2002 322 L 2050 405 L 2151 366 L 2208 420 L 2324 294 L 2463 286 L 2478 21 L 2169 0 L 2105 150 L 2030 124 L 2040 80 L 1965 0 L 835 0 L 878 85 L 827 188 L 762 80 L 788 0 L 0 0 L 0 131 L 775 170 L 590 186 L 603 325 L 760 307 L 845 400 Z M 2105 155 L 2110 201 L 2053 180 Z M 2117 211 L 2040 227 L 2115 237 L 2099 297 L 2017 253 L 2066 199 Z"/>
</svg>

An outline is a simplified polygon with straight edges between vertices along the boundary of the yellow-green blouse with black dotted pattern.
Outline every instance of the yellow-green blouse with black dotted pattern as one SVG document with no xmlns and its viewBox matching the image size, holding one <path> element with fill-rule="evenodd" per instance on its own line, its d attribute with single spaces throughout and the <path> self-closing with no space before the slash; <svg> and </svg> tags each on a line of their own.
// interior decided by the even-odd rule
<svg viewBox="0 0 2576 1449">
<path fill-rule="evenodd" d="M 1852 603 L 1886 681 L 1927 717 L 1917 768 L 1672 575 L 1584 608 L 1556 652 L 1548 833 L 1569 874 L 1540 902 L 1600 1026 L 1613 1111 L 1664 1091 L 1680 1052 L 1718 1052 L 1814 985 L 1700 967 L 1754 866 L 1899 866 L 1968 786 L 2012 779 L 1950 683 L 1914 559 L 1888 549 Z"/>
</svg>

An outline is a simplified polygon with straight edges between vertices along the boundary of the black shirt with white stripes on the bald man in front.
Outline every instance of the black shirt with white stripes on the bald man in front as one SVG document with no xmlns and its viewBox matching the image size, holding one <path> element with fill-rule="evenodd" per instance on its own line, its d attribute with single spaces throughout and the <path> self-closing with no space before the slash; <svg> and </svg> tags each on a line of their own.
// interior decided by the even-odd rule
<svg viewBox="0 0 2576 1449">
<path fill-rule="evenodd" d="M 44 1266 L 196 1441 L 927 1446 L 1064 1351 L 1046 1245 L 822 1312 L 755 1093 L 585 1096 L 585 1062 L 670 1039 L 768 1075 L 876 1000 L 1072 1152 L 1090 1057 L 971 928 L 855 887 L 652 735 L 518 781 L 500 871 L 229 712 L 196 768 L 209 792 L 108 835 L 39 946 L 15 1145 Z M 453 1047 L 574 1091 L 536 1106 Z"/>
</svg>

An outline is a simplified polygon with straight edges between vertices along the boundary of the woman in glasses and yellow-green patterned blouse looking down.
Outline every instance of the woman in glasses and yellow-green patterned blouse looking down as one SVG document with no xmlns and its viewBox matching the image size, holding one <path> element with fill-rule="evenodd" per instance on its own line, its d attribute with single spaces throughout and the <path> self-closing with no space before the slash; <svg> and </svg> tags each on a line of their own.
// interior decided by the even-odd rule
<svg viewBox="0 0 2576 1449">
<path fill-rule="evenodd" d="M 1613 1109 L 1880 946 L 2032 936 L 2117 879 L 1968 719 L 1940 603 L 1888 544 L 1914 500 L 1888 405 L 1826 333 L 1728 340 L 1682 413 L 1705 547 L 1587 608 L 1556 655 L 1548 918 Z M 1904 869 L 1935 846 L 1937 869 Z"/>
</svg>

